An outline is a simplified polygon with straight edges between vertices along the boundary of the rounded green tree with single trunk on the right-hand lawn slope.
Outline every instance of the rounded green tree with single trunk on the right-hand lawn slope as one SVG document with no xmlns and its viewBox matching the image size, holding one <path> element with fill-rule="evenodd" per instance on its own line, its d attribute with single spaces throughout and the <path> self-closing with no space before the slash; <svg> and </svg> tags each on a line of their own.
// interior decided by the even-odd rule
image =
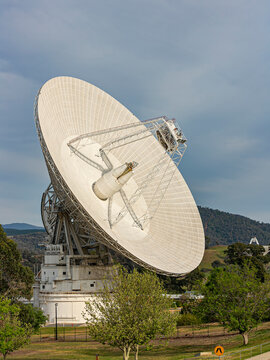
<svg viewBox="0 0 270 360">
<path fill-rule="evenodd" d="M 244 345 L 249 332 L 260 323 L 267 311 L 269 281 L 261 283 L 256 269 L 237 265 L 214 269 L 201 292 L 204 295 L 198 314 L 215 318 L 229 331 L 239 331 Z"/>
</svg>

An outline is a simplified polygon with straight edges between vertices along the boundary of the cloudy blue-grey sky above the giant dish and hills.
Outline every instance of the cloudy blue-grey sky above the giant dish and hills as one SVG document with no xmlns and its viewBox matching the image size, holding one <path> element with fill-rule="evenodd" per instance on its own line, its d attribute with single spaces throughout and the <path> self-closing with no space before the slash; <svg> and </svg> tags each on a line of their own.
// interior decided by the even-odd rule
<svg viewBox="0 0 270 360">
<path fill-rule="evenodd" d="M 270 222 L 268 0 L 0 0 L 0 223 L 41 225 L 33 103 L 66 75 L 175 117 L 198 205 Z"/>
</svg>

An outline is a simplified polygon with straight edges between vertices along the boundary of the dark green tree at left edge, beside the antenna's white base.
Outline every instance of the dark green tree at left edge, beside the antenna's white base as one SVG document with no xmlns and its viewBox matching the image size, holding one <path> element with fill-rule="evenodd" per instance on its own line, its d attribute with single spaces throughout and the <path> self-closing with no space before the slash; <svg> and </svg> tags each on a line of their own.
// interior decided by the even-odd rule
<svg viewBox="0 0 270 360">
<path fill-rule="evenodd" d="M 34 275 L 21 260 L 17 244 L 7 238 L 0 225 L 0 295 L 31 298 Z"/>
</svg>

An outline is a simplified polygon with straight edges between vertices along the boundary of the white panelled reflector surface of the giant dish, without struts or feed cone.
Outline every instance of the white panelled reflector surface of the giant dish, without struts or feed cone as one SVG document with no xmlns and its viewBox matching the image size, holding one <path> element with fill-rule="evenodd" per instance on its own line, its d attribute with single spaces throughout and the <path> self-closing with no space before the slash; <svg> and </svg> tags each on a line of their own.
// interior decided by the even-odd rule
<svg viewBox="0 0 270 360">
<path fill-rule="evenodd" d="M 134 226 L 130 214 L 110 226 L 108 200 L 100 200 L 92 189 L 101 176 L 100 171 L 72 153 L 68 146 L 82 134 L 132 123 L 140 120 L 109 94 L 79 79 L 53 78 L 43 85 L 37 97 L 36 125 L 48 171 L 58 197 L 74 219 L 88 227 L 93 238 L 146 268 L 168 275 L 186 274 L 202 260 L 204 231 L 187 184 L 157 139 L 150 135 L 119 146 L 108 155 L 114 167 L 132 161 L 138 163 L 132 179 L 124 185 L 127 196 L 136 191 L 141 179 L 162 156 L 166 156 L 166 166 L 175 167 L 159 206 L 143 229 Z M 104 144 L 112 136 L 108 132 L 100 141 Z M 102 165 L 98 136 L 90 143 L 84 141 L 81 149 L 85 155 Z M 154 185 L 159 181 L 157 177 Z M 119 193 L 113 199 L 111 211 L 117 215 L 123 203 Z M 142 195 L 134 204 L 138 217 L 147 213 L 150 200 L 150 195 Z"/>
</svg>

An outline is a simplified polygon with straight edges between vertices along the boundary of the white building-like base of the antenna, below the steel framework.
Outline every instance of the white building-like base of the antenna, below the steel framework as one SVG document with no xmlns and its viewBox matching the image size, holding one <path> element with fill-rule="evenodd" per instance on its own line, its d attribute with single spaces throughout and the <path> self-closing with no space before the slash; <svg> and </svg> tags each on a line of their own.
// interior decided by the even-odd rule
<svg viewBox="0 0 270 360">
<path fill-rule="evenodd" d="M 81 324 L 85 302 L 103 288 L 111 266 L 89 266 L 80 256 L 65 255 L 62 245 L 47 245 L 44 264 L 34 286 L 34 306 L 39 306 L 48 323 Z"/>
</svg>

